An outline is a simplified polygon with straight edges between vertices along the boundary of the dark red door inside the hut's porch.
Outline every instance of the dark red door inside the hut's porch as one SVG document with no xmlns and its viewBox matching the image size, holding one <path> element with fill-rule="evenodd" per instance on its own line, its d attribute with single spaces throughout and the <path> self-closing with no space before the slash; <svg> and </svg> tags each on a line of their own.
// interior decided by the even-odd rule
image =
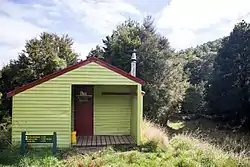
<svg viewBox="0 0 250 167">
<path fill-rule="evenodd" d="M 93 86 L 76 85 L 74 88 L 75 131 L 78 136 L 93 135 Z"/>
</svg>

